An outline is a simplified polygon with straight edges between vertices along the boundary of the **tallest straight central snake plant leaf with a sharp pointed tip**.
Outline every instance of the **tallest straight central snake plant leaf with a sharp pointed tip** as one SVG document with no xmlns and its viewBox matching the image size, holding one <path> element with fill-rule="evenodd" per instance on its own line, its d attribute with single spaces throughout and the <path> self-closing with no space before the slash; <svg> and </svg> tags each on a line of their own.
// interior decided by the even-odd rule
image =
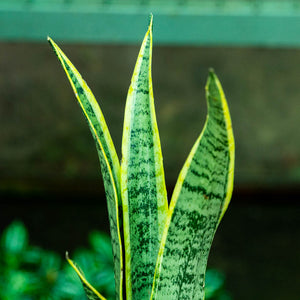
<svg viewBox="0 0 300 300">
<path fill-rule="evenodd" d="M 127 299 L 149 299 L 167 193 L 151 78 L 152 17 L 129 87 L 122 142 Z"/>
</svg>

